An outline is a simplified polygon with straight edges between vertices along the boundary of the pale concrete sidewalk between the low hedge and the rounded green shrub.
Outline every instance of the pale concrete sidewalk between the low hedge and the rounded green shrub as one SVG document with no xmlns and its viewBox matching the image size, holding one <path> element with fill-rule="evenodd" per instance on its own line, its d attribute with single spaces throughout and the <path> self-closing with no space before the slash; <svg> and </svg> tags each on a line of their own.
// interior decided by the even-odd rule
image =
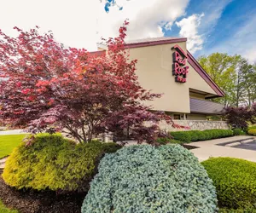
<svg viewBox="0 0 256 213">
<path fill-rule="evenodd" d="M 210 157 L 230 157 L 230 158 L 242 158 L 249 161 L 256 162 L 256 151 L 235 148 L 235 147 L 223 147 L 218 146 L 219 143 L 247 140 L 253 136 L 241 135 L 228 138 L 215 139 L 211 141 L 198 141 L 187 144 L 188 146 L 195 146 L 198 148 L 191 149 L 190 151 L 194 153 L 195 157 L 199 161 L 207 160 Z M 256 140 L 256 137 L 254 137 Z"/>
</svg>

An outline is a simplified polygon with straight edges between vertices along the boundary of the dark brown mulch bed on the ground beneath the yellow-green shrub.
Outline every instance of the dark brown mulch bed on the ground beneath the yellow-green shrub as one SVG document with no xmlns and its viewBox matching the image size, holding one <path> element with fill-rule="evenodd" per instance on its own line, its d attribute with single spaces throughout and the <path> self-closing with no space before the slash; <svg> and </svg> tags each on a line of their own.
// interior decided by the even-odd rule
<svg viewBox="0 0 256 213">
<path fill-rule="evenodd" d="M 20 213 L 80 213 L 86 193 L 56 194 L 52 191 L 21 191 L 7 186 L 0 170 L 0 199 Z"/>
</svg>

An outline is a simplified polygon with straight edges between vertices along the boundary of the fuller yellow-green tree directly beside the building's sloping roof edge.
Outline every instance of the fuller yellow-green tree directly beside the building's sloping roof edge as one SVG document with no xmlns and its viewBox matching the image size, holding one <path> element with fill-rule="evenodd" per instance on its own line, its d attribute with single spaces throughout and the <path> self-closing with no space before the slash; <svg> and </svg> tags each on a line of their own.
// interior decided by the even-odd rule
<svg viewBox="0 0 256 213">
<path fill-rule="evenodd" d="M 199 58 L 201 66 L 225 93 L 224 98 L 214 99 L 213 101 L 223 103 L 225 107 L 234 105 L 234 102 L 236 102 L 236 69 L 240 61 L 240 55 L 230 56 L 222 53 L 213 53 Z"/>
</svg>

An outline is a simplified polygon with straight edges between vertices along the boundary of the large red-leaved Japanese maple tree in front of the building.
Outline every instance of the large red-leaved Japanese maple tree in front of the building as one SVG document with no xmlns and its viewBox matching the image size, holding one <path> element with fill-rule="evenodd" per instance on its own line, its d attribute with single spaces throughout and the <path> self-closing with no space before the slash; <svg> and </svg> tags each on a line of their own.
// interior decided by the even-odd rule
<svg viewBox="0 0 256 213">
<path fill-rule="evenodd" d="M 106 41 L 106 54 L 65 48 L 51 33 L 19 28 L 18 37 L 0 31 L 0 118 L 32 133 L 60 130 L 79 142 L 112 132 L 121 139 L 153 143 L 163 112 L 142 101 L 159 98 L 137 81 L 137 60 L 125 49 L 128 23 Z M 144 125 L 150 122 L 150 125 Z"/>
</svg>

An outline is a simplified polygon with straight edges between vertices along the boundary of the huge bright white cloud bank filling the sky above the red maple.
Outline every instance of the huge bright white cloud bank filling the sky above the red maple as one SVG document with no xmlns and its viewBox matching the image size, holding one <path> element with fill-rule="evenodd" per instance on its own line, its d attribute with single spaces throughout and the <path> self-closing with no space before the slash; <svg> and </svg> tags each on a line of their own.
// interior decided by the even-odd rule
<svg viewBox="0 0 256 213">
<path fill-rule="evenodd" d="M 119 0 L 124 7 L 113 7 L 107 14 L 100 0 L 9 0 L 1 3 L 0 29 L 15 35 L 12 28 L 28 30 L 40 26 L 51 30 L 67 46 L 96 50 L 100 37 L 117 35 L 128 18 L 129 39 L 160 37 L 160 26 L 171 27 L 185 13 L 189 0 Z"/>
</svg>

